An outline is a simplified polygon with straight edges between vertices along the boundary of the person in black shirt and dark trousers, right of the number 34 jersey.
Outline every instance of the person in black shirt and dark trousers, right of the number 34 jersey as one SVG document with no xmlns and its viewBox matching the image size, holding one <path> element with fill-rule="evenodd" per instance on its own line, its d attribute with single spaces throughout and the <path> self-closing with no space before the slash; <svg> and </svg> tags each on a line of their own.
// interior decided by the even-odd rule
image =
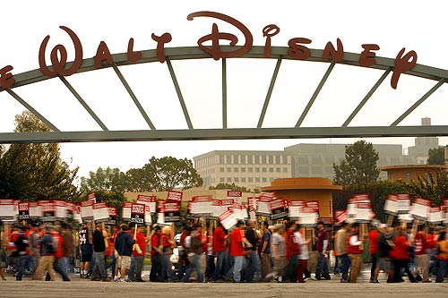
<svg viewBox="0 0 448 298">
<path fill-rule="evenodd" d="M 93 254 L 95 256 L 95 266 L 90 279 L 92 281 L 110 281 L 104 257 L 104 252 L 106 251 L 105 235 L 107 236 L 107 233 L 103 231 L 102 225 L 97 224 L 97 228 L 92 234 Z"/>
</svg>

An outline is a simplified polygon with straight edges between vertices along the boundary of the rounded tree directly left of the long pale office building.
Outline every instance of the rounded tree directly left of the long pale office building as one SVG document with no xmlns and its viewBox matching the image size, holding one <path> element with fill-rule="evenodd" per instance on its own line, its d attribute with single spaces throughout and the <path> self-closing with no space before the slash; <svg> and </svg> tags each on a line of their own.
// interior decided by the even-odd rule
<svg viewBox="0 0 448 298">
<path fill-rule="evenodd" d="M 152 157 L 142 169 L 145 175 L 154 178 L 153 186 L 157 192 L 168 192 L 176 187 L 189 189 L 202 186 L 202 178 L 188 158 Z"/>
</svg>

